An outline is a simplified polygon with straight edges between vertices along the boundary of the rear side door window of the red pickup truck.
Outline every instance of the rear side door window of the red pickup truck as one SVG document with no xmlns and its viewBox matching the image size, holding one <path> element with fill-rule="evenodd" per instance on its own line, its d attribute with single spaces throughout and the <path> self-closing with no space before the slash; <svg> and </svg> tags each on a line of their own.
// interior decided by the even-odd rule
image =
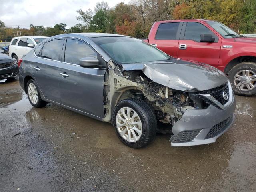
<svg viewBox="0 0 256 192">
<path fill-rule="evenodd" d="M 174 40 L 176 39 L 180 22 L 161 23 L 156 32 L 157 40 Z"/>
</svg>

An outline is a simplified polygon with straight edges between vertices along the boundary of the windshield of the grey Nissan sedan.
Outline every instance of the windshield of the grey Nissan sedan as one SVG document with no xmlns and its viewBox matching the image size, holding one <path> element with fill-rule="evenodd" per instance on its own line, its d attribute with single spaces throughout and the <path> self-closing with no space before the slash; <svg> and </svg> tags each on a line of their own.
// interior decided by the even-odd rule
<svg viewBox="0 0 256 192">
<path fill-rule="evenodd" d="M 131 37 L 91 38 L 116 63 L 167 60 L 170 57 L 142 40 Z"/>
</svg>

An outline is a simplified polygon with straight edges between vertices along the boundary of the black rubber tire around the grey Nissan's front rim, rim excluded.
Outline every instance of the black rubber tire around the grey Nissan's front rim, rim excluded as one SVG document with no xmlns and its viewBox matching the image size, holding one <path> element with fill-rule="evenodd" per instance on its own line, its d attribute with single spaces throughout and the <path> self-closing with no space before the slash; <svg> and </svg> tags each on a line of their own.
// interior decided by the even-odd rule
<svg viewBox="0 0 256 192">
<path fill-rule="evenodd" d="M 132 110 L 134 110 L 138 114 L 142 122 L 142 135 L 140 136 L 140 139 L 136 142 L 128 142 L 118 132 L 118 128 L 116 126 L 116 116 L 118 111 L 123 107 L 132 108 Z M 148 104 L 138 98 L 130 98 L 120 101 L 114 108 L 112 120 L 118 138 L 129 147 L 142 148 L 150 144 L 156 137 L 156 116 L 153 110 L 148 106 Z"/>
</svg>

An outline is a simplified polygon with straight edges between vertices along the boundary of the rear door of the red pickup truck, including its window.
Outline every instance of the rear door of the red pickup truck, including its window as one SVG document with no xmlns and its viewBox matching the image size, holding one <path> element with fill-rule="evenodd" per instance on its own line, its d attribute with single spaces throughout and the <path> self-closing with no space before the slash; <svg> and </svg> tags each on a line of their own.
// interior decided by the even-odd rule
<svg viewBox="0 0 256 192">
<path fill-rule="evenodd" d="M 160 23 L 149 43 L 173 57 L 178 57 L 178 44 L 183 22 Z"/>
</svg>

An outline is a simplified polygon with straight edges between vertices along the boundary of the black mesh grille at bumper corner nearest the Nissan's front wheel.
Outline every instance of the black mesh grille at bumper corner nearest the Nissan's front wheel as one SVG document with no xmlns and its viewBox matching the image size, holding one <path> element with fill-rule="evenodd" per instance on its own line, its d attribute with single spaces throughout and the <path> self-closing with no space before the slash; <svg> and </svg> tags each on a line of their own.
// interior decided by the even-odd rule
<svg viewBox="0 0 256 192">
<path fill-rule="evenodd" d="M 172 136 L 170 142 L 172 143 L 185 143 L 192 141 L 200 132 L 201 129 L 188 130 L 179 132 L 177 136 Z"/>
</svg>

